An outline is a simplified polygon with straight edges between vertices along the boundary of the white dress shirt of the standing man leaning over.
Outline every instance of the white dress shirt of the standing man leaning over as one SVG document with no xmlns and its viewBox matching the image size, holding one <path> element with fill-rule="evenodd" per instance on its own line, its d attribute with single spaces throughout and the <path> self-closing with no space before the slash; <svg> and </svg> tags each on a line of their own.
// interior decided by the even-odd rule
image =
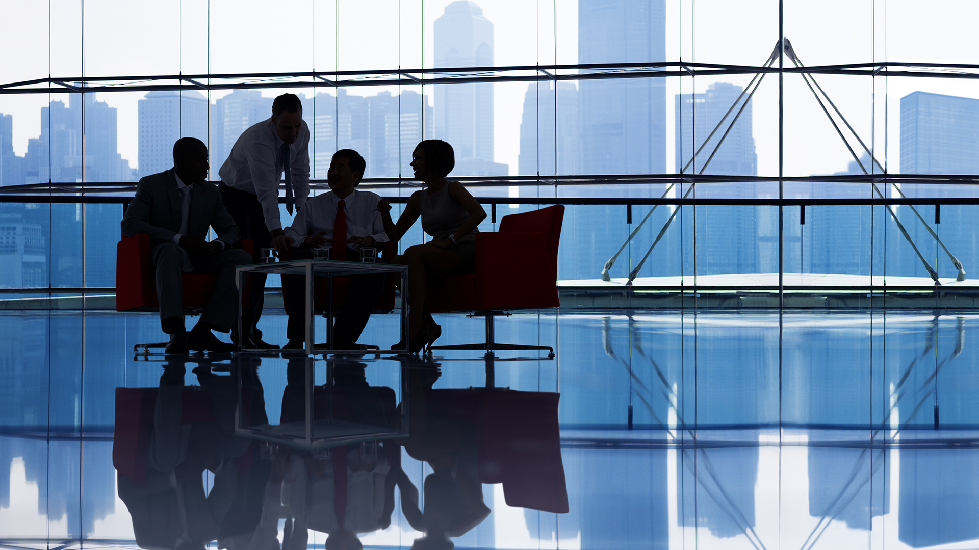
<svg viewBox="0 0 979 550">
<path fill-rule="evenodd" d="M 282 138 L 271 118 L 245 130 L 231 148 L 228 160 L 217 171 L 221 181 L 232 189 L 247 191 L 258 198 L 269 231 L 282 229 L 279 220 L 279 181 Z M 309 196 L 309 126 L 303 120 L 300 137 L 289 146 L 296 207 L 302 208 Z"/>
</svg>

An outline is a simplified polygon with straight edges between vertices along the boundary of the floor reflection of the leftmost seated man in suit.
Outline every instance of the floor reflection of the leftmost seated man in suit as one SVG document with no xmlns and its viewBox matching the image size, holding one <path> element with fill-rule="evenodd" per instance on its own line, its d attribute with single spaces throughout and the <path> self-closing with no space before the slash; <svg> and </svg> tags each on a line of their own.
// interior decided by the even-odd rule
<svg viewBox="0 0 979 550">
<path fill-rule="evenodd" d="M 217 538 L 219 527 L 238 496 L 238 459 L 246 453 L 250 441 L 234 435 L 235 387 L 229 377 L 215 377 L 210 369 L 199 367 L 195 372 L 200 389 L 185 388 L 183 362 L 164 364 L 152 428 L 147 427 L 150 435 L 145 477 L 119 471 L 118 494 L 129 510 L 140 548 L 203 550 Z M 194 397 L 188 409 L 184 403 L 186 391 L 203 391 L 207 399 L 187 395 Z M 208 401 L 211 410 L 200 406 Z M 201 420 L 195 415 L 207 421 L 195 422 Z M 183 423 L 182 416 L 186 417 Z M 146 419 L 146 424 L 150 420 Z M 121 422 L 117 418 L 117 424 Z M 131 436 L 139 438 L 138 433 Z M 117 440 L 114 444 L 126 446 L 131 442 Z M 136 454 L 139 455 L 138 450 Z M 205 470 L 213 474 L 213 486 L 207 493 L 202 480 Z"/>
</svg>

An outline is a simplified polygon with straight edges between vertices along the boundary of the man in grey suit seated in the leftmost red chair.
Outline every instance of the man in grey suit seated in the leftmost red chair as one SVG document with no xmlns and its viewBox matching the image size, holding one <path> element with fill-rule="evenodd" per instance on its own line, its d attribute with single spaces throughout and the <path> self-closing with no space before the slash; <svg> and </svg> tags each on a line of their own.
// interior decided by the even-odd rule
<svg viewBox="0 0 979 550">
<path fill-rule="evenodd" d="M 235 349 L 210 331 L 231 329 L 238 309 L 235 266 L 252 263 L 252 256 L 232 248 L 239 239 L 238 226 L 224 209 L 217 187 L 205 181 L 208 167 L 204 142 L 178 139 L 173 144 L 173 168 L 139 180 L 136 196 L 122 216 L 124 235 L 146 233 L 153 244 L 160 322 L 170 335 L 167 353 Z M 205 240 L 208 226 L 217 233 L 210 243 Z M 184 329 L 182 273 L 217 275 L 201 320 L 189 335 Z"/>
</svg>

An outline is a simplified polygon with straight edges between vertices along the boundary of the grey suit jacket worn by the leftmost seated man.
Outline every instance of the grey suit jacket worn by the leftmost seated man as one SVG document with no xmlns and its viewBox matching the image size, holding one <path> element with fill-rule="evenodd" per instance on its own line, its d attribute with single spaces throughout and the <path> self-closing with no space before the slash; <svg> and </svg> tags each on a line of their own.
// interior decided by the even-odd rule
<svg viewBox="0 0 979 550">
<path fill-rule="evenodd" d="M 173 168 L 151 174 L 139 180 L 136 196 L 122 216 L 122 233 L 127 236 L 146 233 L 156 246 L 173 241 L 180 231 L 180 190 Z M 204 182 L 194 185 L 190 194 L 190 222 L 187 232 L 192 237 L 207 237 L 208 226 L 214 228 L 217 240 L 230 248 L 241 232 L 231 214 L 224 209 L 217 187 Z"/>
</svg>

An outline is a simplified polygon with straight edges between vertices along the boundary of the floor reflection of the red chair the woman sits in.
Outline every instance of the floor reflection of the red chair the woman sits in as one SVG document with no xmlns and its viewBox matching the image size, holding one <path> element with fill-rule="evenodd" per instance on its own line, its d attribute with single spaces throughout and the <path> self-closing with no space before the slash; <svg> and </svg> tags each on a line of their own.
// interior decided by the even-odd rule
<svg viewBox="0 0 979 550">
<path fill-rule="evenodd" d="M 508 506 L 568 512 L 557 420 L 560 393 L 429 390 L 428 414 L 473 423 L 480 481 L 503 483 Z"/>
</svg>

